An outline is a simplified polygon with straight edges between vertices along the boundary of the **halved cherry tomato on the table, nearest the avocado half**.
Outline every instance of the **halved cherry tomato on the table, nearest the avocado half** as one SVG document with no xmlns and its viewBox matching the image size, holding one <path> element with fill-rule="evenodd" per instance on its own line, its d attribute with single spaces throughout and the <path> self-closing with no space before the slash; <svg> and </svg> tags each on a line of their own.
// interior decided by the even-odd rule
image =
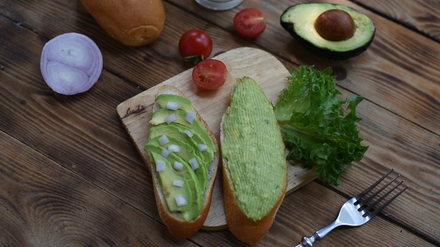
<svg viewBox="0 0 440 247">
<path fill-rule="evenodd" d="M 256 8 L 245 8 L 235 14 L 234 27 L 241 36 L 255 38 L 266 29 L 264 14 Z"/>
</svg>

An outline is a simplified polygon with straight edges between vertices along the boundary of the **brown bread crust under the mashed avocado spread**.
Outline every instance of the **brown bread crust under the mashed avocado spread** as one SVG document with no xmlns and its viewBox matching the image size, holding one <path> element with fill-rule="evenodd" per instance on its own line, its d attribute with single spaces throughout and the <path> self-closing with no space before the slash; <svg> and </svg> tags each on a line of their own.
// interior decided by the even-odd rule
<svg viewBox="0 0 440 247">
<path fill-rule="evenodd" d="M 239 80 L 237 80 L 237 83 L 239 83 Z M 234 90 L 236 89 L 236 86 L 231 91 L 231 96 L 234 95 Z M 266 98 L 267 99 L 267 98 Z M 269 102 L 269 101 L 267 101 Z M 220 143 L 223 148 L 223 141 L 225 141 L 225 138 L 231 138 L 225 136 L 225 130 L 223 128 L 223 123 L 225 121 L 226 113 L 223 115 L 223 118 L 221 120 L 221 126 L 220 126 Z M 252 122 L 252 121 L 250 121 Z M 250 123 L 251 124 L 251 123 Z M 250 126 L 252 128 L 252 126 Z M 277 125 L 278 132 L 279 127 Z M 236 130 L 239 131 L 239 130 Z M 261 133 L 262 135 L 266 133 Z M 263 138 L 264 139 L 264 138 Z M 282 141 L 281 132 L 279 132 L 279 139 Z M 282 150 L 280 150 L 279 155 L 283 156 L 283 161 L 285 165 L 285 171 L 283 178 L 281 180 L 277 181 L 279 183 L 279 186 L 282 187 L 281 193 L 278 196 L 278 200 L 274 202 L 272 205 L 272 209 L 268 211 L 264 217 L 262 217 L 259 220 L 253 220 L 246 213 L 243 211 L 243 209 L 239 206 L 237 202 L 237 195 L 236 191 L 234 189 L 234 183 L 232 181 L 231 171 L 228 168 L 228 160 L 224 157 L 222 157 L 221 161 L 223 164 L 222 169 L 222 176 L 223 176 L 223 204 L 225 209 L 225 215 L 226 220 L 228 222 L 228 227 L 230 231 L 242 242 L 248 243 L 248 244 L 256 244 L 258 243 L 269 231 L 270 227 L 272 226 L 272 223 L 274 222 L 274 217 L 276 215 L 276 212 L 278 211 L 278 208 L 281 205 L 281 202 L 283 202 L 283 198 L 285 196 L 285 190 L 287 187 L 287 162 L 284 159 L 284 143 L 282 144 Z M 223 150 L 222 150 L 223 152 Z M 223 155 L 223 153 L 222 153 Z M 258 152 L 255 153 L 256 156 L 258 156 Z M 244 158 L 245 160 L 245 158 Z M 256 168 L 259 169 L 259 168 Z M 248 171 L 251 172 L 251 171 Z M 260 183 L 260 181 L 257 181 L 256 183 Z M 249 189 L 252 189 L 252 185 L 249 185 Z M 265 201 L 261 201 L 261 204 L 266 203 Z"/>
</svg>

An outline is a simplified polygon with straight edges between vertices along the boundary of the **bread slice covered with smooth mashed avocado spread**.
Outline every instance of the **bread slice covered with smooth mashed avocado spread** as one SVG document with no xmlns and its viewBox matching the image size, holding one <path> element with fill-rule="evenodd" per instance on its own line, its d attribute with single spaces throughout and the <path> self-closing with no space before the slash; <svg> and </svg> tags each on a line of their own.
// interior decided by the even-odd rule
<svg viewBox="0 0 440 247">
<path fill-rule="evenodd" d="M 272 104 L 252 78 L 239 78 L 221 121 L 223 200 L 230 231 L 258 243 L 285 196 L 287 163 Z"/>
</svg>

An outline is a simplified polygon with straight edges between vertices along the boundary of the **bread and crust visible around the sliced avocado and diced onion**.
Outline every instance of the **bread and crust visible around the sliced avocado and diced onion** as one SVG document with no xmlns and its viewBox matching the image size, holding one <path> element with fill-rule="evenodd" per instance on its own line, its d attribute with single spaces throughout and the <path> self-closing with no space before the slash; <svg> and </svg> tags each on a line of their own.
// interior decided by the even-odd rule
<svg viewBox="0 0 440 247">
<path fill-rule="evenodd" d="M 174 86 L 162 86 L 157 91 L 157 96 L 166 94 L 166 95 L 180 95 L 182 97 L 185 97 L 184 93 L 182 93 L 179 89 L 175 88 Z M 159 104 L 155 103 L 153 105 L 153 112 L 161 109 Z M 195 110 L 195 108 L 193 108 Z M 197 110 L 195 110 L 196 113 L 196 119 L 200 122 L 200 124 L 205 128 L 206 132 L 208 133 L 210 139 L 212 140 L 212 143 L 215 147 L 214 152 L 212 152 L 212 162 L 208 164 L 207 169 L 205 172 L 207 173 L 207 181 L 206 181 L 206 189 L 202 191 L 203 197 L 201 200 L 201 209 L 199 215 L 195 217 L 192 220 L 186 220 L 179 212 L 172 212 L 170 211 L 168 204 L 166 203 L 166 196 L 164 194 L 164 187 L 161 184 L 161 180 L 159 178 L 158 172 L 155 170 L 155 162 L 153 161 L 153 157 L 151 156 L 151 153 L 147 151 L 148 156 L 150 158 L 150 162 L 147 163 L 148 170 L 151 172 L 152 178 L 153 178 L 153 187 L 155 192 L 155 201 L 157 204 L 157 209 L 159 212 L 159 216 L 168 228 L 168 231 L 171 235 L 175 238 L 186 238 L 190 237 L 191 235 L 194 235 L 199 231 L 201 226 L 203 225 L 203 222 L 205 222 L 206 217 L 208 216 L 208 211 L 210 209 L 210 203 L 211 203 L 211 197 L 212 197 L 212 189 L 214 188 L 214 182 L 217 176 L 217 170 L 219 167 L 219 145 L 217 143 L 217 140 L 214 136 L 214 133 L 208 128 L 208 125 L 205 121 L 201 118 Z M 152 119 L 153 120 L 153 119 Z M 166 123 L 165 123 L 166 125 Z M 151 130 L 150 126 L 150 130 Z M 151 134 L 150 134 L 151 137 Z M 149 140 L 150 141 L 150 140 Z M 148 144 L 148 143 L 147 143 Z M 200 170 L 200 169 L 197 169 Z M 197 171 L 196 170 L 196 171 Z"/>
</svg>

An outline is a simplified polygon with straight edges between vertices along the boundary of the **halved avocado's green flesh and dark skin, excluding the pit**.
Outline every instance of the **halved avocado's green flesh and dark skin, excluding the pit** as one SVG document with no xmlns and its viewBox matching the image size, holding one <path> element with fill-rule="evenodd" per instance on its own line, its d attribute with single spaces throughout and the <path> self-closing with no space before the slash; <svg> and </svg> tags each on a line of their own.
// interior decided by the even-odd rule
<svg viewBox="0 0 440 247">
<path fill-rule="evenodd" d="M 345 40 L 333 41 L 323 38 L 318 33 L 315 21 L 328 10 L 343 10 L 351 16 L 355 23 L 353 36 Z M 368 16 L 345 5 L 332 3 L 292 5 L 281 14 L 281 26 L 311 51 L 336 60 L 358 56 L 371 45 L 375 36 L 374 23 Z"/>
</svg>

